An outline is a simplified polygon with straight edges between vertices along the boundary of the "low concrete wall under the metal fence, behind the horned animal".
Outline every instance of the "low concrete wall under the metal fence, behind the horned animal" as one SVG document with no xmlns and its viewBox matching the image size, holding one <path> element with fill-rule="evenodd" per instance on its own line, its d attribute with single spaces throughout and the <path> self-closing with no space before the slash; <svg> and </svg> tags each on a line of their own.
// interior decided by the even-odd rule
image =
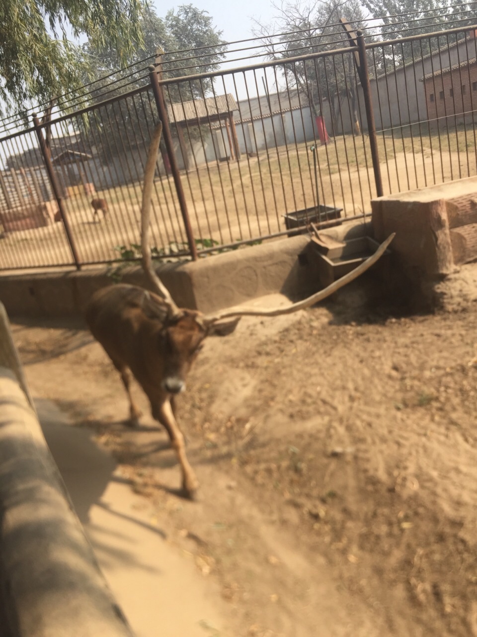
<svg viewBox="0 0 477 637">
<path fill-rule="evenodd" d="M 300 258 L 307 244 L 308 236 L 300 235 L 197 262 L 163 264 L 158 273 L 179 306 L 204 312 L 274 292 L 300 297 L 319 289 Z M 139 267 L 123 271 L 123 282 L 149 287 Z M 0 276 L 0 300 L 10 315 L 74 315 L 95 290 L 111 283 L 106 268 Z"/>
</svg>

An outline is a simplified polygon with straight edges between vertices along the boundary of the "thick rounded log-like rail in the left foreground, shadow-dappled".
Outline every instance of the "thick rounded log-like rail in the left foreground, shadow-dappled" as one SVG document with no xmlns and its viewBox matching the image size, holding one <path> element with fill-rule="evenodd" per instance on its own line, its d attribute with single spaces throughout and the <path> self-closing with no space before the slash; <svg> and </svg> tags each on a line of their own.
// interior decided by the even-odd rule
<svg viewBox="0 0 477 637">
<path fill-rule="evenodd" d="M 3 344 L 8 332 L 8 323 L 1 322 Z M 0 632 L 8 637 L 132 637 L 36 414 L 17 375 L 2 366 L 16 357 L 7 350 L 4 345 L 0 352 Z"/>
</svg>

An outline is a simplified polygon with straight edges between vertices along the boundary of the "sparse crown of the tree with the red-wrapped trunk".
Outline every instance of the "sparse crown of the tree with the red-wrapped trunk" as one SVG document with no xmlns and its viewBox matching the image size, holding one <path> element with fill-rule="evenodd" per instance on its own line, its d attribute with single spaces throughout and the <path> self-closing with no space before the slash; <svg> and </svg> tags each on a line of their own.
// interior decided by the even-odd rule
<svg viewBox="0 0 477 637">
<path fill-rule="evenodd" d="M 352 55 L 310 58 L 290 62 L 287 58 L 310 55 L 326 50 L 349 47 L 349 39 L 340 18 L 359 29 L 364 22 L 363 10 L 357 0 L 325 0 L 304 4 L 301 0 L 276 6 L 277 15 L 270 25 L 258 24 L 256 35 L 263 39 L 268 57 L 284 61 L 286 84 L 296 87 L 301 101 L 309 104 L 315 117 L 321 115 L 323 100 L 328 100 L 333 129 L 339 129 L 343 99 L 356 95 L 356 73 Z M 284 33 L 273 38 L 270 34 Z M 276 41 L 276 39 L 278 41 Z"/>
</svg>

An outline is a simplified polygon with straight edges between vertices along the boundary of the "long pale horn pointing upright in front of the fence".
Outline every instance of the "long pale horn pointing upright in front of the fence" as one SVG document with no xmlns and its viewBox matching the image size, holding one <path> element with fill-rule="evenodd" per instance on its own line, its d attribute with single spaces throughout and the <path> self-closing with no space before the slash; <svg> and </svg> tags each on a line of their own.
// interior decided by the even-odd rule
<svg viewBox="0 0 477 637">
<path fill-rule="evenodd" d="M 156 171 L 156 159 L 159 150 L 159 143 L 162 135 L 162 122 L 156 124 L 149 146 L 148 161 L 146 161 L 146 168 L 144 169 L 144 186 L 142 188 L 142 203 L 141 203 L 141 252 L 142 252 L 142 268 L 148 275 L 149 280 L 164 297 L 164 301 L 169 307 L 169 313 L 172 316 L 177 316 L 181 313 L 174 299 L 170 296 L 170 292 L 162 283 L 160 278 L 156 275 L 153 268 L 153 260 L 151 256 L 151 250 L 149 250 L 149 220 L 151 218 L 151 195 L 153 192 L 154 173 Z"/>
</svg>

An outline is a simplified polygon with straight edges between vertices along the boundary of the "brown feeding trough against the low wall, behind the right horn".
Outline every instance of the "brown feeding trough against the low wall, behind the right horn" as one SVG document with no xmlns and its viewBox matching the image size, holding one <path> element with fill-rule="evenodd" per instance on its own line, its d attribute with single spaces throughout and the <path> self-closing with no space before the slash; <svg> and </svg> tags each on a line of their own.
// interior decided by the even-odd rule
<svg viewBox="0 0 477 637">
<path fill-rule="evenodd" d="M 312 237 L 317 257 L 320 282 L 323 287 L 347 275 L 376 252 L 379 243 L 371 237 L 360 237 L 349 241 L 324 241 Z M 385 255 L 391 254 L 386 250 Z"/>
</svg>

